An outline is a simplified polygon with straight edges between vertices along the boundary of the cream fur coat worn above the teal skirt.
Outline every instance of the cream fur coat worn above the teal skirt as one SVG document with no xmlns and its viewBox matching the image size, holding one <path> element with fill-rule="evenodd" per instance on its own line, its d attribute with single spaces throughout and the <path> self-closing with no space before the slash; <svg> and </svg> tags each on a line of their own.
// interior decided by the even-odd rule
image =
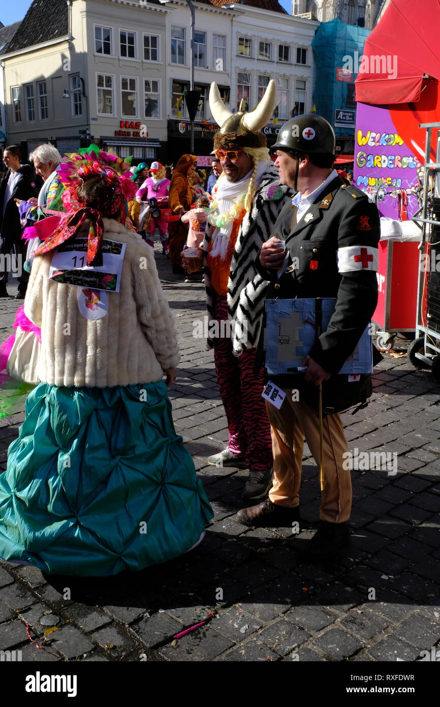
<svg viewBox="0 0 440 707">
<path fill-rule="evenodd" d="M 40 380 L 66 387 L 112 387 L 160 380 L 179 361 L 173 317 L 162 292 L 153 250 L 121 223 L 104 218 L 104 237 L 126 243 L 119 293 L 108 312 L 88 320 L 78 287 L 49 280 L 54 251 L 35 257 L 25 314 L 41 327 Z M 83 229 L 78 237 L 87 233 Z"/>
</svg>

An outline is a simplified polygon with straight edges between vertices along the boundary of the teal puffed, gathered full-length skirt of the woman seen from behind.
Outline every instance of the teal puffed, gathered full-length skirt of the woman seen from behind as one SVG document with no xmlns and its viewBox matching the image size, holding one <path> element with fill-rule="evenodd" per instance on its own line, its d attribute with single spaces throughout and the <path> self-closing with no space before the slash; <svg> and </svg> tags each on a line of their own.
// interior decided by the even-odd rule
<svg viewBox="0 0 440 707">
<path fill-rule="evenodd" d="M 189 550 L 212 517 L 165 382 L 30 392 L 0 474 L 0 558 L 138 571 Z"/>
</svg>

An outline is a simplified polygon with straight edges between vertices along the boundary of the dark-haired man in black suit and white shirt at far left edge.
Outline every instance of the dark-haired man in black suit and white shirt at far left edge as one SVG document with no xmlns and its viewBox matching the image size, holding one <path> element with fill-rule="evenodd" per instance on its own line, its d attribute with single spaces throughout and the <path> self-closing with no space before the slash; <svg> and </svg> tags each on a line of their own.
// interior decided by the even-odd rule
<svg viewBox="0 0 440 707">
<path fill-rule="evenodd" d="M 11 267 L 11 251 L 15 249 L 17 261 L 14 262 L 14 270 L 18 273 L 16 299 L 23 299 L 29 274 L 23 270 L 25 243 L 21 240 L 20 214 L 15 199 L 27 201 L 37 197 L 38 189 L 33 168 L 20 163 L 20 148 L 17 145 L 5 148 L 3 162 L 6 173 L 0 182 L 0 297 L 8 296 L 8 269 Z"/>
</svg>

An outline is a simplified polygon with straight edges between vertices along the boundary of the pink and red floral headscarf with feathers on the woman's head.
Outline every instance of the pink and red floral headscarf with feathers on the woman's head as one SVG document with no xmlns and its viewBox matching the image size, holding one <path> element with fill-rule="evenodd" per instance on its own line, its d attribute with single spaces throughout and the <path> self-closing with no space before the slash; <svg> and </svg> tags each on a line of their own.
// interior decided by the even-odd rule
<svg viewBox="0 0 440 707">
<path fill-rule="evenodd" d="M 126 201 L 136 194 L 136 184 L 131 181 L 131 172 L 128 170 L 129 160 L 122 160 L 116 155 L 100 151 L 95 145 L 78 151 L 77 154 L 67 156 L 58 173 L 65 186 L 63 201 L 73 214 L 42 243 L 35 255 L 42 255 L 64 241 L 75 238 L 86 218 L 90 218 L 88 230 L 87 264 L 102 265 L 102 237 L 104 224 L 102 216 L 113 216 L 121 209 L 126 211 Z M 95 204 L 92 208 L 78 197 L 78 187 L 92 177 L 102 177 L 109 187 L 110 196 Z"/>
</svg>

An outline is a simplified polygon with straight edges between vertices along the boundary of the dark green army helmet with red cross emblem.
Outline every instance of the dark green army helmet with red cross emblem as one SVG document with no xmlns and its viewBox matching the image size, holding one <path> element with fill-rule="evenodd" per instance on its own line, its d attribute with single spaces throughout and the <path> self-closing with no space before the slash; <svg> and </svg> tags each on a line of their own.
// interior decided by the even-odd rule
<svg viewBox="0 0 440 707">
<path fill-rule="evenodd" d="M 335 154 L 335 133 L 331 124 L 320 115 L 297 115 L 280 127 L 278 140 L 270 149 L 278 147 L 296 152 Z"/>
</svg>

